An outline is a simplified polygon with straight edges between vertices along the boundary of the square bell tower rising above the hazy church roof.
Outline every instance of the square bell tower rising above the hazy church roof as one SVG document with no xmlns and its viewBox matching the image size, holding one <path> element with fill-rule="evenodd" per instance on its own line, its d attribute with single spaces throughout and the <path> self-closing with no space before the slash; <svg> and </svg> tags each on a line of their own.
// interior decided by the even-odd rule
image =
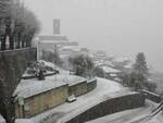
<svg viewBox="0 0 163 123">
<path fill-rule="evenodd" d="M 53 35 L 60 35 L 60 19 L 53 20 Z"/>
</svg>

